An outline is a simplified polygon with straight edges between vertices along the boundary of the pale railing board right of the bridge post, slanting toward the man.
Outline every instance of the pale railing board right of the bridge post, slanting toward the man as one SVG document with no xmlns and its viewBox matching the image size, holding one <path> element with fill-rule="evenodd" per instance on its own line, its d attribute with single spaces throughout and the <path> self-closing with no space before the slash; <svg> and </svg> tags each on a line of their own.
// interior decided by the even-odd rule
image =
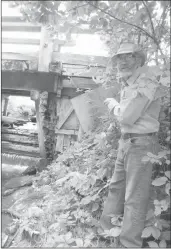
<svg viewBox="0 0 171 249">
<path fill-rule="evenodd" d="M 70 53 L 53 52 L 52 62 L 60 61 L 62 63 L 80 64 L 80 65 L 96 65 L 106 67 L 109 61 L 104 56 L 89 56 Z"/>
</svg>

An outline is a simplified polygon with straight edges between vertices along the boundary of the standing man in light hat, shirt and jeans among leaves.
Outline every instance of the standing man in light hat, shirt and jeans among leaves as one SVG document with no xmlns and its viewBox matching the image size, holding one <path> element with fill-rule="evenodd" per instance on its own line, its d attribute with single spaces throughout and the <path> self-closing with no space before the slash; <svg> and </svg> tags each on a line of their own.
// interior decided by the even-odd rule
<svg viewBox="0 0 171 249">
<path fill-rule="evenodd" d="M 120 123 L 121 139 L 100 222 L 109 230 L 114 227 L 111 216 L 123 215 L 121 246 L 140 248 L 152 176 L 152 164 L 142 158 L 159 149 L 160 98 L 156 97 L 157 81 L 149 77 L 147 67 L 143 70 L 145 54 L 137 45 L 122 43 L 112 59 L 122 84 L 121 99 L 120 104 L 115 99 L 107 99 L 105 104 Z"/>
</svg>

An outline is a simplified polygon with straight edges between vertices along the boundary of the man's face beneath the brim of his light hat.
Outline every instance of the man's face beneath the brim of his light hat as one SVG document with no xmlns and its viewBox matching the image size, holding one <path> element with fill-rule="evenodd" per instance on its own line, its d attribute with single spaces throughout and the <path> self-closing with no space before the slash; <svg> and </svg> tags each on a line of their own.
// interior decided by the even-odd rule
<svg viewBox="0 0 171 249">
<path fill-rule="evenodd" d="M 117 55 L 116 62 L 121 74 L 131 74 L 138 66 L 137 57 L 132 53 Z"/>
</svg>

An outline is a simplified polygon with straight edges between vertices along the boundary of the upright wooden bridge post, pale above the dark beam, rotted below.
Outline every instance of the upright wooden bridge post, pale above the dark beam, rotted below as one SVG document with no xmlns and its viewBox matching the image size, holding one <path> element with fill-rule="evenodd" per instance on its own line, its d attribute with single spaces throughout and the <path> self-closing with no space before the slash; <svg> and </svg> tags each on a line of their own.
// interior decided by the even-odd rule
<svg viewBox="0 0 171 249">
<path fill-rule="evenodd" d="M 40 39 L 40 50 L 39 50 L 39 59 L 38 59 L 38 71 L 47 72 L 49 74 L 49 65 L 52 59 L 54 43 L 49 37 L 49 33 L 46 27 L 42 26 L 41 29 L 41 39 Z M 53 90 L 55 88 L 55 78 L 57 74 L 53 75 Z M 48 85 L 49 82 L 46 82 Z M 49 91 L 39 91 L 37 94 L 36 103 L 36 114 L 37 114 L 37 123 L 39 129 L 39 146 L 40 146 L 40 155 L 43 158 L 46 158 L 48 162 L 53 160 L 53 144 L 55 139 L 55 118 L 56 110 L 54 108 L 54 99 L 53 94 L 50 94 Z M 52 104 L 51 104 L 52 102 Z M 54 117 L 54 119 L 53 119 Z M 54 127 L 53 127 L 54 126 Z"/>
</svg>

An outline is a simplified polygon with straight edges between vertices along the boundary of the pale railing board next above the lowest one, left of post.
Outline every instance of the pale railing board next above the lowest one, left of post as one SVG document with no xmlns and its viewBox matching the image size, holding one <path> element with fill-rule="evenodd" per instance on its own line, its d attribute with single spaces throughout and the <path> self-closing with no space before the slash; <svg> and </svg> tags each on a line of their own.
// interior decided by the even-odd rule
<svg viewBox="0 0 171 249">
<path fill-rule="evenodd" d="M 2 43 L 7 44 L 29 44 L 29 45 L 39 45 L 39 39 L 24 39 L 24 38 L 6 38 L 2 37 Z"/>
</svg>

